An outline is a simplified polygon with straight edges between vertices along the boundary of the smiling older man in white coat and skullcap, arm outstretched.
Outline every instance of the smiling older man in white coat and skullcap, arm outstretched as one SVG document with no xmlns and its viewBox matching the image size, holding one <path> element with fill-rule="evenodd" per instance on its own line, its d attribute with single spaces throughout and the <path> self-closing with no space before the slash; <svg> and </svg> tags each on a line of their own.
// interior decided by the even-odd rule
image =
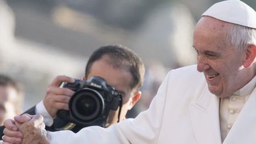
<svg viewBox="0 0 256 144">
<path fill-rule="evenodd" d="M 207 9 L 194 30 L 197 65 L 170 71 L 149 109 L 135 119 L 73 133 L 46 132 L 39 115 L 16 116 L 23 142 L 256 143 L 255 18 L 255 10 L 239 0 Z M 18 137 L 6 136 L 12 143 Z"/>
</svg>

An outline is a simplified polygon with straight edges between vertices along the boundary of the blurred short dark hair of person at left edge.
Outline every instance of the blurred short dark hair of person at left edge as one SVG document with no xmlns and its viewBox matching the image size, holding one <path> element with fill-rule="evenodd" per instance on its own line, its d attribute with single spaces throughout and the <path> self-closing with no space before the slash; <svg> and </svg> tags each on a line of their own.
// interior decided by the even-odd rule
<svg viewBox="0 0 256 144">
<path fill-rule="evenodd" d="M 21 109 L 23 105 L 23 88 L 21 87 L 20 82 L 11 78 L 10 76 L 0 74 L 0 86 L 2 87 L 11 87 L 14 88 L 18 94 L 18 97 L 15 98 L 15 106 L 17 109 Z"/>
</svg>

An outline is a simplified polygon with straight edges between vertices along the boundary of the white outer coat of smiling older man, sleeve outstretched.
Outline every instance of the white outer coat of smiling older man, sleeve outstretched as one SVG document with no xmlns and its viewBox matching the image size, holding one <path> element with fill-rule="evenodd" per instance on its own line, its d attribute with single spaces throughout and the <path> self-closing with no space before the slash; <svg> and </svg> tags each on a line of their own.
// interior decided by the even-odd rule
<svg viewBox="0 0 256 144">
<path fill-rule="evenodd" d="M 223 144 L 256 143 L 256 94 L 252 91 Z M 103 129 L 50 132 L 51 144 L 220 144 L 219 98 L 196 65 L 168 73 L 149 109 Z"/>
</svg>

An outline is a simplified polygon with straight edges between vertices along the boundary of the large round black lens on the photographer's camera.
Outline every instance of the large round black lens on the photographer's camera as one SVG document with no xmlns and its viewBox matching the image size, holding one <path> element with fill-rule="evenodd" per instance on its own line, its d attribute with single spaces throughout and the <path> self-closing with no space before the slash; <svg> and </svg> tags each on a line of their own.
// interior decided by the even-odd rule
<svg viewBox="0 0 256 144">
<path fill-rule="evenodd" d="M 71 117 L 77 123 L 88 123 L 96 119 L 104 110 L 104 100 L 94 89 L 79 89 L 69 101 Z"/>
</svg>

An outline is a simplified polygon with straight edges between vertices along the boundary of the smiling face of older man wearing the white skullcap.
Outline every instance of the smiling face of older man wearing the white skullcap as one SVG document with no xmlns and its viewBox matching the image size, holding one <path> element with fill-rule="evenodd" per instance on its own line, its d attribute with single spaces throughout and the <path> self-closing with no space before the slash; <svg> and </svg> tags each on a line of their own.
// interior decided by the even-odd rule
<svg viewBox="0 0 256 144">
<path fill-rule="evenodd" d="M 226 40 L 230 23 L 202 17 L 194 31 L 197 70 L 203 72 L 209 91 L 228 97 L 247 84 L 245 71 L 247 50 L 238 51 Z"/>
</svg>

